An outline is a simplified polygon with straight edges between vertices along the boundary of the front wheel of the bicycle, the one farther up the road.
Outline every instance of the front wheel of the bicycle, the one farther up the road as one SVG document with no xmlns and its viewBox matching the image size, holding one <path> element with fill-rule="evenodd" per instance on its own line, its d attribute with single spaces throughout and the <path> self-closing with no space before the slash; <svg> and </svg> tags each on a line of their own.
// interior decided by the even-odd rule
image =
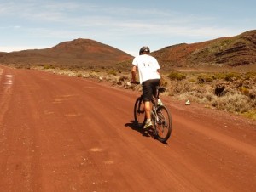
<svg viewBox="0 0 256 192">
<path fill-rule="evenodd" d="M 142 97 L 137 98 L 134 104 L 134 120 L 137 127 L 144 126 L 144 123 L 146 120 L 146 114 L 145 114 L 144 102 Z"/>
</svg>

